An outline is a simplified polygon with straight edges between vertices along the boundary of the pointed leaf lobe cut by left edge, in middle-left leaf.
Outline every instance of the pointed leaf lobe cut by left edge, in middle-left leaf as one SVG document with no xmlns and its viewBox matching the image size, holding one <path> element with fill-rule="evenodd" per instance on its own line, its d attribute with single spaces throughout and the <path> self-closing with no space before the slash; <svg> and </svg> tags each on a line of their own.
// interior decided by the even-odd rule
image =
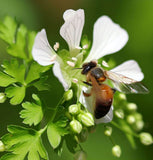
<svg viewBox="0 0 153 160">
<path fill-rule="evenodd" d="M 16 82 L 16 80 L 9 75 L 0 72 L 0 86 L 1 87 L 7 87 L 8 85 Z"/>
</svg>

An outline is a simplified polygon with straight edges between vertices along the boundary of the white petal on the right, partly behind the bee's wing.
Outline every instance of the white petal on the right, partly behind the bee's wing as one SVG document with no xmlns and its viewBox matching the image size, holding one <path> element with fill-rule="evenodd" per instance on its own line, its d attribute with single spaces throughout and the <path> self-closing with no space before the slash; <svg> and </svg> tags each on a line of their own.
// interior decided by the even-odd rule
<svg viewBox="0 0 153 160">
<path fill-rule="evenodd" d="M 114 73 L 122 74 L 128 78 L 134 79 L 136 81 L 141 81 L 144 78 L 141 68 L 138 63 L 134 60 L 126 61 L 119 66 L 111 70 Z"/>
</svg>

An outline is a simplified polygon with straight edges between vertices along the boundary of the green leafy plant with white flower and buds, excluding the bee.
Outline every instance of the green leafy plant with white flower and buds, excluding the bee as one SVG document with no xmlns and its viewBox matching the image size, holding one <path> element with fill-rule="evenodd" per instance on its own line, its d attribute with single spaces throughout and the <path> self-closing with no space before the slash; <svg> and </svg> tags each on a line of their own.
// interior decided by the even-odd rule
<svg viewBox="0 0 153 160">
<path fill-rule="evenodd" d="M 91 46 L 87 36 L 81 39 L 84 11 L 67 10 L 63 17 L 65 22 L 60 34 L 68 43 L 69 50 L 59 50 L 59 43 L 53 49 L 44 29 L 36 34 L 10 17 L 0 23 L 0 38 L 6 43 L 6 51 L 11 56 L 1 65 L 0 87 L 3 92 L 0 93 L 0 102 L 8 99 L 10 105 L 22 106 L 19 116 L 24 124 L 24 127 L 8 125 L 8 133 L 0 140 L 0 151 L 5 151 L 0 160 L 49 159 L 43 135 L 47 135 L 48 142 L 59 156 L 65 143 L 75 159 L 86 159 L 81 143 L 99 123 L 103 123 L 104 134 L 111 141 L 113 127 L 116 127 L 125 133 L 133 148 L 136 147 L 135 138 L 144 145 L 153 143 L 152 136 L 142 132 L 144 122 L 137 105 L 128 102 L 125 95 L 131 90 L 133 93 L 148 91 L 139 83 L 144 78 L 139 65 L 129 60 L 112 69 L 115 62 L 106 62 L 104 57 L 119 51 L 126 44 L 127 32 L 109 17 L 102 16 L 94 25 Z M 83 91 L 91 90 L 92 84 L 88 86 L 86 76 L 77 69 L 83 69 L 84 63 L 95 59 L 99 67 L 110 70 L 108 73 L 117 74 L 120 70 L 119 73 L 128 77 L 120 79 L 120 82 L 126 81 L 123 86 L 106 81 L 111 87 L 115 85 L 117 91 L 110 110 L 101 118 L 96 118 L 94 114 L 95 97 L 83 94 Z M 49 72 L 52 69 L 64 88 L 63 96 L 54 107 L 45 103 L 41 96 L 42 91 L 52 92 Z M 114 141 L 112 145 L 112 154 L 120 157 L 121 147 Z"/>
</svg>

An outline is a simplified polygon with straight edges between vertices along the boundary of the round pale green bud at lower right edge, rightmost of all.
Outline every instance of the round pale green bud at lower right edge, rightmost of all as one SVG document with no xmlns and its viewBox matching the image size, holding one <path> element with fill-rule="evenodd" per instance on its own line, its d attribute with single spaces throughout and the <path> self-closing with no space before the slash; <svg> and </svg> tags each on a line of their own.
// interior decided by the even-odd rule
<svg viewBox="0 0 153 160">
<path fill-rule="evenodd" d="M 140 133 L 140 141 L 144 145 L 150 145 L 153 144 L 153 138 L 150 133 L 142 132 Z"/>
</svg>

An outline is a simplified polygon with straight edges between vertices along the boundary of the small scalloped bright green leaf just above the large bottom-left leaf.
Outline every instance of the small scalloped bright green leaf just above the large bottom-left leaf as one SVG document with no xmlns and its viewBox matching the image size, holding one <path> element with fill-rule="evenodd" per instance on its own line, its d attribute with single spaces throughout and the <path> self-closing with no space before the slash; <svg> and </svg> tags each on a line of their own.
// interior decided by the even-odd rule
<svg viewBox="0 0 153 160">
<path fill-rule="evenodd" d="M 32 124 L 37 125 L 43 118 L 43 109 L 39 97 L 33 94 L 33 99 L 37 100 L 37 104 L 30 102 L 22 103 L 24 109 L 20 112 L 20 117 L 24 118 L 23 123 L 30 126 Z"/>
</svg>

